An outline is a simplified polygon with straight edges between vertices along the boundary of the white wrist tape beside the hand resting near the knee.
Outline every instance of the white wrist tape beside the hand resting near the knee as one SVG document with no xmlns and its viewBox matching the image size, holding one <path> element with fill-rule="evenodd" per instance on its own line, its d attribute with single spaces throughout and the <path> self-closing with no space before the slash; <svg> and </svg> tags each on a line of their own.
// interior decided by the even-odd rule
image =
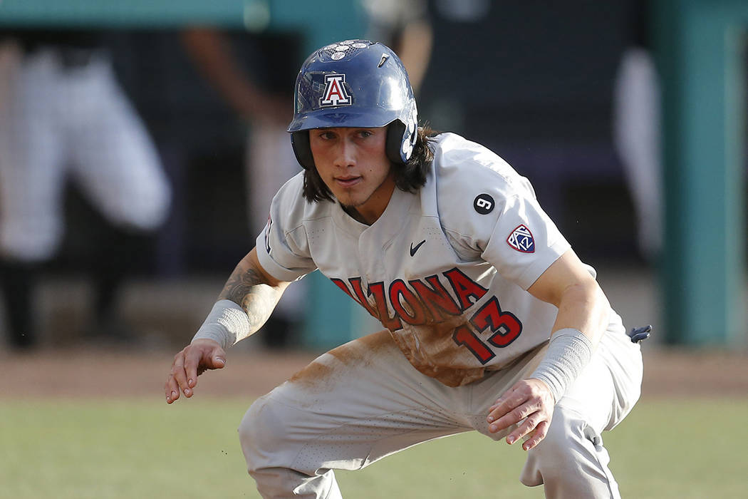
<svg viewBox="0 0 748 499">
<path fill-rule="evenodd" d="M 592 350 L 592 342 L 582 331 L 574 328 L 560 329 L 551 335 L 548 352 L 530 378 L 545 382 L 551 388 L 554 400 L 558 402 L 566 388 L 589 364 Z"/>
</svg>

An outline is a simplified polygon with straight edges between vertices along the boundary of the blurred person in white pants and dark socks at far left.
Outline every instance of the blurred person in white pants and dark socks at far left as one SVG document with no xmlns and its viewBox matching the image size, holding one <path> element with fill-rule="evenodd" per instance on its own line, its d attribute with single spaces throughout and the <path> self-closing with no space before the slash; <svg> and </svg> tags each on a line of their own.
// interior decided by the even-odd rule
<svg viewBox="0 0 748 499">
<path fill-rule="evenodd" d="M 88 337 L 123 340 L 123 278 L 165 221 L 171 187 L 144 123 L 117 83 L 98 31 L 0 33 L 0 276 L 8 340 L 37 344 L 34 282 L 64 233 L 69 181 L 108 221 L 99 235 Z"/>
</svg>

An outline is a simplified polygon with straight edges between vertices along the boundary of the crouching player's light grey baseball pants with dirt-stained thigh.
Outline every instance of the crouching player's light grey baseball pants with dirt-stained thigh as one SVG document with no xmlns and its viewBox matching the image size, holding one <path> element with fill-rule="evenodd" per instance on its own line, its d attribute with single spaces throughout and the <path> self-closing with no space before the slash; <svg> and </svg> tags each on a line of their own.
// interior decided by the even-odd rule
<svg viewBox="0 0 748 499">
<path fill-rule="evenodd" d="M 515 426 L 488 432 L 488 408 L 533 372 L 546 345 L 505 370 L 450 388 L 415 370 L 388 331 L 346 343 L 251 405 L 239 426 L 248 471 L 266 499 L 339 499 L 334 469 L 358 470 L 471 430 L 500 440 Z M 634 406 L 642 372 L 640 346 L 612 313 L 592 361 L 557 403 L 548 435 L 527 453 L 521 483 L 543 484 L 548 498 L 619 498 L 601 433 Z M 497 444 L 496 452 L 506 450 Z"/>
</svg>

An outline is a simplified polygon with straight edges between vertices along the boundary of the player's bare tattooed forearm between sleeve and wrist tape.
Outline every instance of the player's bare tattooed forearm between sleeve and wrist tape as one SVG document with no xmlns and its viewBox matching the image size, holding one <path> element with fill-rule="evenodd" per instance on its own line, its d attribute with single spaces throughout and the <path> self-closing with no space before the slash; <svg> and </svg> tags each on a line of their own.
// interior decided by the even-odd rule
<svg viewBox="0 0 748 499">
<path fill-rule="evenodd" d="M 281 291 L 263 282 L 263 276 L 252 267 L 237 266 L 224 286 L 219 299 L 231 300 L 244 308 L 251 331 L 257 331 L 268 319 Z"/>
</svg>

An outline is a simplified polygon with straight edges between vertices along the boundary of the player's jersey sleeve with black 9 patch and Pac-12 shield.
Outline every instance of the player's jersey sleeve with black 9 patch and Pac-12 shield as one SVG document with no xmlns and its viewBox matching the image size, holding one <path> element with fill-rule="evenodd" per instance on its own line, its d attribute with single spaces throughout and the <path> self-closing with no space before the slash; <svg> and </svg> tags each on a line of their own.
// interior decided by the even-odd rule
<svg viewBox="0 0 748 499">
<path fill-rule="evenodd" d="M 530 182 L 477 144 L 455 144 L 438 155 L 438 204 L 453 248 L 491 263 L 527 290 L 570 245 L 543 211 Z M 456 145 L 453 151 L 449 147 Z"/>
</svg>

